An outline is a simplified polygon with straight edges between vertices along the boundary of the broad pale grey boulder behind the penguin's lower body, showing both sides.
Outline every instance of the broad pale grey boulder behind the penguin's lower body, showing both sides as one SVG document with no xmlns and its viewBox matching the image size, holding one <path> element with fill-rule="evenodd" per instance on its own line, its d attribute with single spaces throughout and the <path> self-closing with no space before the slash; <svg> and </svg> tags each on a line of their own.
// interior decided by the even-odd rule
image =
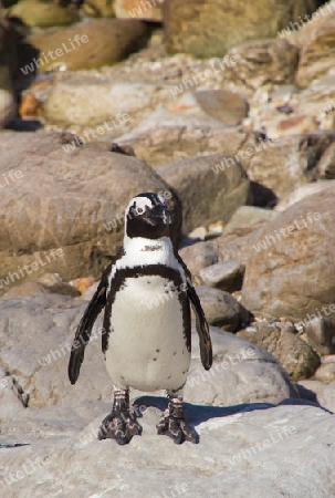
<svg viewBox="0 0 335 498">
<path fill-rule="evenodd" d="M 56 294 L 0 301 L 0 367 L 14 377 L 29 406 L 112 400 L 112 382 L 101 352 L 102 315 L 86 346 L 75 386 L 67 378 L 71 343 L 86 305 L 83 299 Z M 279 403 L 297 396 L 294 385 L 269 353 L 220 329 L 212 328 L 211 335 L 217 367 L 212 367 L 208 378 L 200 366 L 199 340 L 193 330 L 192 370 L 186 400 L 206 404 L 212 404 L 214 397 L 223 404 Z"/>
</svg>

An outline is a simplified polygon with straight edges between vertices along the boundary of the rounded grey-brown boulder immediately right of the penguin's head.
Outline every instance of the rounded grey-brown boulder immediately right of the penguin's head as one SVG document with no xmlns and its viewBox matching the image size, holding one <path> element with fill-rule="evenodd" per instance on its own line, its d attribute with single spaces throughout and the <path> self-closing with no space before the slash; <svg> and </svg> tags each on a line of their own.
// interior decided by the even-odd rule
<svg viewBox="0 0 335 498">
<path fill-rule="evenodd" d="M 250 184 L 238 162 L 227 158 L 231 167 L 213 173 L 212 169 L 223 159 L 219 155 L 192 157 L 156 168 L 182 199 L 186 232 L 218 219 L 228 221 L 248 201 Z"/>
</svg>

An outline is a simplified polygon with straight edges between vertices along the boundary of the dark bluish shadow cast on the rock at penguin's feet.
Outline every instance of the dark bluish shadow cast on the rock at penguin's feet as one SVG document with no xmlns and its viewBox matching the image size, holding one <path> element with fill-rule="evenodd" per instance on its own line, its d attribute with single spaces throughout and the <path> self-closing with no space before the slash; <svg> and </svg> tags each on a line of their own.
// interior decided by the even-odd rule
<svg viewBox="0 0 335 498">
<path fill-rule="evenodd" d="M 146 408 L 154 407 L 164 412 L 168 406 L 168 400 L 163 396 L 139 396 L 134 403 L 134 407 L 137 413 L 143 414 Z M 184 413 L 187 423 L 196 428 L 203 422 L 213 418 L 223 418 L 238 413 L 254 412 L 257 409 L 275 408 L 283 405 L 299 405 L 299 406 L 314 406 L 315 408 L 323 409 L 329 414 L 333 414 L 329 409 L 321 406 L 317 402 L 302 398 L 287 398 L 281 403 L 242 403 L 233 406 L 211 406 L 211 405 L 193 405 L 190 403 L 184 403 Z M 142 415 L 139 415 L 142 416 Z M 199 435 L 198 435 L 199 437 Z"/>
</svg>

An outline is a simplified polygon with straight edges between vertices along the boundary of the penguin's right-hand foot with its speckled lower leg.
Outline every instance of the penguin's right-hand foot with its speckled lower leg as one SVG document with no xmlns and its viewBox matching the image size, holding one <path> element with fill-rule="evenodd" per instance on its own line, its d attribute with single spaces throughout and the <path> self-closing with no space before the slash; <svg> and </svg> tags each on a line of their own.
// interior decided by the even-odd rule
<svg viewBox="0 0 335 498">
<path fill-rule="evenodd" d="M 177 445 L 185 440 L 199 443 L 198 434 L 185 421 L 182 398 L 180 397 L 170 398 L 168 408 L 164 412 L 156 428 L 159 435 L 170 437 Z"/>
</svg>

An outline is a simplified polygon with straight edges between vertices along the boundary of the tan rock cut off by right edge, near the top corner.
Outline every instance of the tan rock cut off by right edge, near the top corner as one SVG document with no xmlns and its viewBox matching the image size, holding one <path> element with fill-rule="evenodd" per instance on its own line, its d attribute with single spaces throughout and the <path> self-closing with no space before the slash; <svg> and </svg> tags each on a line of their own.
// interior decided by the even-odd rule
<svg viewBox="0 0 335 498">
<path fill-rule="evenodd" d="M 302 46 L 295 81 L 306 87 L 315 80 L 328 74 L 335 54 L 335 12 L 323 17 L 324 21 L 313 25 Z M 311 23 L 313 24 L 313 23 Z M 310 28 L 312 29 L 312 27 Z M 302 37 L 304 33 L 302 33 Z"/>
</svg>

